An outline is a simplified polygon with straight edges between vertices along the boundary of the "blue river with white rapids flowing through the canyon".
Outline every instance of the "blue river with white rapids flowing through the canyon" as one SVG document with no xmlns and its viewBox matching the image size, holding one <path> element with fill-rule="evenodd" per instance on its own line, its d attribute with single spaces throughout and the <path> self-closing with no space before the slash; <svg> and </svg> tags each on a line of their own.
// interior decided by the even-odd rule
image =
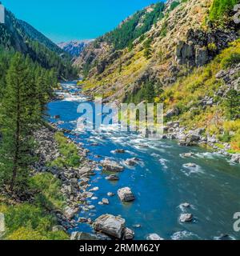
<svg viewBox="0 0 240 256">
<path fill-rule="evenodd" d="M 74 92 L 74 82 L 64 83 L 63 86 Z M 60 120 L 64 123 L 60 127 L 75 130 L 79 118 L 77 107 L 85 98 L 73 94 L 65 96 L 62 101 L 50 102 L 49 114 L 51 117 L 61 116 Z M 50 121 L 56 122 L 54 118 Z M 89 158 L 97 162 L 106 157 L 121 163 L 126 158 L 141 159 L 139 165 L 133 168 L 126 166 L 119 174 L 118 182 L 107 181 L 108 174 L 96 170 L 90 183 L 90 188 L 99 187 L 94 192 L 98 200 L 90 199 L 95 209 L 79 212 L 76 219 L 95 219 L 106 213 L 122 215 L 126 218 L 126 225 L 134 230 L 135 239 L 146 239 L 152 233 L 165 239 L 217 239 L 222 234 L 240 239 L 240 232 L 235 232 L 233 228 L 234 213 L 240 211 L 239 165 L 198 147 L 182 147 L 169 140 L 150 141 L 137 134 L 114 130 L 69 136 L 76 142 L 82 142 L 90 150 Z M 94 142 L 98 146 L 91 146 Z M 126 154 L 114 154 L 116 149 L 124 149 Z M 180 156 L 187 152 L 193 152 L 194 157 Z M 195 163 L 197 168 L 184 167 L 188 162 Z M 134 202 L 123 203 L 118 196 L 107 197 L 108 192 L 117 194 L 117 190 L 124 186 L 130 186 L 134 192 Z M 98 205 L 102 198 L 108 198 L 110 205 Z M 182 202 L 189 202 L 190 209 L 182 209 Z M 184 212 L 193 214 L 194 221 L 180 223 L 179 216 Z M 141 227 L 135 227 L 136 224 Z M 91 228 L 79 224 L 74 230 L 90 232 Z"/>
</svg>

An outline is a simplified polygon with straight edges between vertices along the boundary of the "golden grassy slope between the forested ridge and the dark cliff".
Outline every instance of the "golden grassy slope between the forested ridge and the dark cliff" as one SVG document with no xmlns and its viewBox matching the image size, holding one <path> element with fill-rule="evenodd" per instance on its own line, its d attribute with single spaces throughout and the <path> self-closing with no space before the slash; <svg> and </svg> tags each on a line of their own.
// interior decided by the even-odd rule
<svg viewBox="0 0 240 256">
<path fill-rule="evenodd" d="M 105 98 L 113 96 L 122 100 L 126 94 L 131 94 L 134 85 L 148 71 L 157 74 L 159 82 L 165 84 L 166 78 L 170 77 L 171 64 L 176 64 L 177 42 L 186 40 L 190 28 L 202 28 L 212 1 L 188 0 L 175 6 L 174 10 L 168 10 L 165 17 L 144 34 L 143 41 L 138 38 L 134 41 L 133 49 L 122 50 L 121 58 L 106 66 L 102 74 L 94 73 L 86 78 L 82 82 L 84 90 L 93 90 L 91 93 L 101 94 Z M 147 38 L 152 38 L 150 58 L 144 56 Z"/>
</svg>

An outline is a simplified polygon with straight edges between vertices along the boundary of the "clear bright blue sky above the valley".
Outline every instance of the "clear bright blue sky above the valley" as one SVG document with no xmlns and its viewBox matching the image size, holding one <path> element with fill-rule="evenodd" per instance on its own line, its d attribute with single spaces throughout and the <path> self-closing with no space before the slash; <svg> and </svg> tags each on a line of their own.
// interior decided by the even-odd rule
<svg viewBox="0 0 240 256">
<path fill-rule="evenodd" d="M 136 10 L 159 1 L 2 0 L 2 4 L 54 42 L 62 42 L 97 38 Z"/>
</svg>

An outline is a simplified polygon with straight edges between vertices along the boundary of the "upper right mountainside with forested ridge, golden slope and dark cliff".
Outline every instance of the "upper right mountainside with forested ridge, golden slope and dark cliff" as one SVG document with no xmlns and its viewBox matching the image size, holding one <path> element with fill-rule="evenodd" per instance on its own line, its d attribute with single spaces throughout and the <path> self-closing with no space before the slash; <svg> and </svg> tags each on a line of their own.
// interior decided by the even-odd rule
<svg viewBox="0 0 240 256">
<path fill-rule="evenodd" d="M 150 22 L 150 30 L 132 38 L 128 47 L 123 47 L 126 42 L 121 47 L 115 43 L 121 42 L 119 34 L 125 31 L 122 25 L 116 29 L 118 33 L 114 30 L 91 43 L 75 62 L 86 78 L 86 93 L 127 101 L 131 95 L 141 94 L 139 90 L 150 80 L 158 95 L 162 87 L 172 85 L 195 66 L 210 62 L 238 38 L 234 22 L 226 18 L 222 28 L 217 26 L 217 19 L 210 19 L 214 1 L 218 0 L 168 1 L 163 11 L 156 5 L 147 7 L 140 12 L 142 19 L 146 14 L 158 18 L 150 19 L 154 21 Z M 154 14 L 156 8 L 158 15 Z M 133 17 L 123 24 L 130 23 Z M 220 18 L 222 22 L 224 18 Z M 138 34 L 139 24 L 126 30 L 127 34 Z"/>
</svg>

